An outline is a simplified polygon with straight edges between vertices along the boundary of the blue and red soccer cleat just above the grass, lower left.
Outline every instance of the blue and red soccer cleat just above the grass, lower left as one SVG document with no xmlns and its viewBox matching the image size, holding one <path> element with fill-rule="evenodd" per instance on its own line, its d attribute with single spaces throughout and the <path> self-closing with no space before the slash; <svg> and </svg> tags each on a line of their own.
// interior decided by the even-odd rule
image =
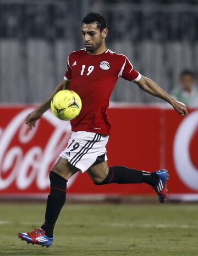
<svg viewBox="0 0 198 256">
<path fill-rule="evenodd" d="M 31 227 L 31 226 L 30 226 Z M 34 228 L 34 227 L 33 227 Z M 42 230 L 42 228 L 34 228 L 32 232 L 27 233 L 18 233 L 18 237 L 21 238 L 21 240 L 26 241 L 27 243 L 32 244 L 40 244 L 40 246 L 44 247 L 50 247 L 53 242 L 53 238 L 45 236 L 45 230 Z"/>
</svg>

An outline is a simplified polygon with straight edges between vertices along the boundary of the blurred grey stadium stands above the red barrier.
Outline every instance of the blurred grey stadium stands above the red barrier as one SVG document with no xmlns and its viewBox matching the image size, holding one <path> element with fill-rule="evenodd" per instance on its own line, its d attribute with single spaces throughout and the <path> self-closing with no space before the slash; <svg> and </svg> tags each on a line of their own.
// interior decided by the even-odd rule
<svg viewBox="0 0 198 256">
<path fill-rule="evenodd" d="M 105 15 L 107 47 L 168 92 L 183 70 L 197 73 L 196 0 L 0 0 L 0 102 L 42 102 L 62 80 L 71 51 L 84 47 L 80 25 Z M 162 102 L 119 79 L 112 101 Z"/>
</svg>

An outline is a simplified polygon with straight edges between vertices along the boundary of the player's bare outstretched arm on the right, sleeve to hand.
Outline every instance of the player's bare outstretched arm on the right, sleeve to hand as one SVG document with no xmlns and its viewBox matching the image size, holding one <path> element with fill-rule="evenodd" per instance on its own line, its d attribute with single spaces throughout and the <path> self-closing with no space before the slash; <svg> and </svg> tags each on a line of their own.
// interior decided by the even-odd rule
<svg viewBox="0 0 198 256">
<path fill-rule="evenodd" d="M 152 94 L 155 97 L 166 100 L 169 104 L 171 104 L 175 111 L 177 111 L 180 115 L 187 115 L 188 111 L 184 103 L 178 102 L 171 95 L 169 95 L 165 90 L 163 90 L 157 83 L 153 82 L 151 79 L 141 76 L 138 82 L 140 89 L 144 90 L 147 93 Z"/>
</svg>

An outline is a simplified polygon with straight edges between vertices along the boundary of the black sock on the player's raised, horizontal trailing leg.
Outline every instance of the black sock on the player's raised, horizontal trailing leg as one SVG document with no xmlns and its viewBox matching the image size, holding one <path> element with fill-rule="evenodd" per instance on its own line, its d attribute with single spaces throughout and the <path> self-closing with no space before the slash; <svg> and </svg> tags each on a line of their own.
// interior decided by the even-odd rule
<svg viewBox="0 0 198 256">
<path fill-rule="evenodd" d="M 127 168 L 125 166 L 113 166 L 109 167 L 109 173 L 107 177 L 97 185 L 103 185 L 108 183 L 147 183 L 154 186 L 158 182 L 159 176 L 156 173 L 145 172 L 144 170 L 136 170 Z"/>
</svg>

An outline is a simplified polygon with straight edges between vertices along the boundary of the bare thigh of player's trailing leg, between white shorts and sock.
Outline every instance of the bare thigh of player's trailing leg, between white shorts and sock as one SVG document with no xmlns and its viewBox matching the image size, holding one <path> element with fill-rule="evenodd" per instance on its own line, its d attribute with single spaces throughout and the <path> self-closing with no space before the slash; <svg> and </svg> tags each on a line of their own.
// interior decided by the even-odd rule
<svg viewBox="0 0 198 256">
<path fill-rule="evenodd" d="M 96 164 L 95 166 L 91 166 L 87 173 L 94 183 L 101 183 L 109 172 L 109 167 L 107 161 Z"/>
</svg>

